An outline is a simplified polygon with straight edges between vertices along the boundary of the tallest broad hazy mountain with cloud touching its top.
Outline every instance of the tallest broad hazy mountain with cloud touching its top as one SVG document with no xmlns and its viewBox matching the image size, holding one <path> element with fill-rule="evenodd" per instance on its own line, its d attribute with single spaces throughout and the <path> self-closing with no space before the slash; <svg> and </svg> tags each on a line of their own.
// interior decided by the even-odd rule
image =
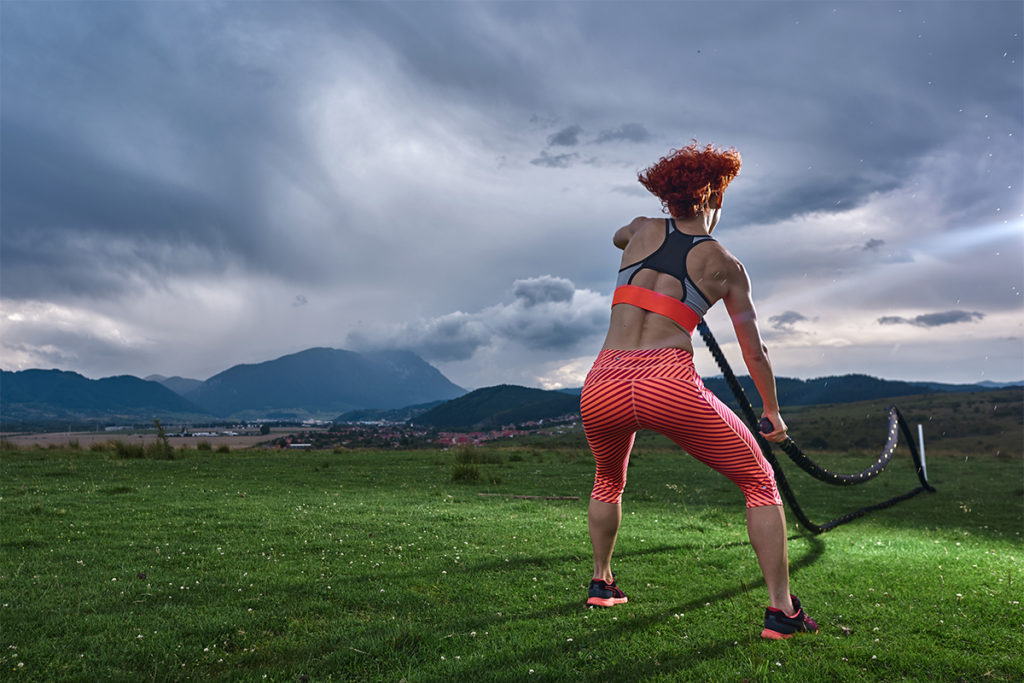
<svg viewBox="0 0 1024 683">
<path fill-rule="evenodd" d="M 310 348 L 274 360 L 234 366 L 186 394 L 221 416 L 334 417 L 360 409 L 394 409 L 464 394 L 411 351 L 356 353 Z"/>
</svg>

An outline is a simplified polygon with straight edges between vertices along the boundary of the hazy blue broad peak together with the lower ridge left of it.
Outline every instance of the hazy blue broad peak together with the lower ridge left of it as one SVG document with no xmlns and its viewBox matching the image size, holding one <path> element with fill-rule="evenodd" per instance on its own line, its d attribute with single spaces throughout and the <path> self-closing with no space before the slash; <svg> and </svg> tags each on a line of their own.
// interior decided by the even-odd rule
<svg viewBox="0 0 1024 683">
<path fill-rule="evenodd" d="M 410 351 L 310 348 L 234 366 L 205 382 L 161 376 L 91 380 L 60 370 L 0 372 L 3 429 L 154 418 L 330 420 L 345 411 L 400 409 L 466 393 Z"/>
</svg>

